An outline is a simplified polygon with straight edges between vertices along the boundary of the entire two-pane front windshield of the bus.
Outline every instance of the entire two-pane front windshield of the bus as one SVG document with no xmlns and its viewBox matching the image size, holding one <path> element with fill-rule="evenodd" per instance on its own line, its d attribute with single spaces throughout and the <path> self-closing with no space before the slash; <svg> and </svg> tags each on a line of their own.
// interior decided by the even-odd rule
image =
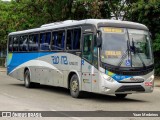
<svg viewBox="0 0 160 120">
<path fill-rule="evenodd" d="M 146 67 L 153 64 L 148 31 L 104 27 L 101 61 L 119 67 Z"/>
</svg>

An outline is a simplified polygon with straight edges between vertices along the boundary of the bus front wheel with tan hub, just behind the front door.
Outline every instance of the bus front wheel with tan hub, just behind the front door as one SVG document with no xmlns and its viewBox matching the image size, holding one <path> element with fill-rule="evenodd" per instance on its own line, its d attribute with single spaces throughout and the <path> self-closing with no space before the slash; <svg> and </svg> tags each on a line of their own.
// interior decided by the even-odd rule
<svg viewBox="0 0 160 120">
<path fill-rule="evenodd" d="M 80 98 L 81 91 L 79 91 L 79 81 L 78 76 L 74 74 L 70 80 L 70 94 L 73 98 Z"/>
</svg>

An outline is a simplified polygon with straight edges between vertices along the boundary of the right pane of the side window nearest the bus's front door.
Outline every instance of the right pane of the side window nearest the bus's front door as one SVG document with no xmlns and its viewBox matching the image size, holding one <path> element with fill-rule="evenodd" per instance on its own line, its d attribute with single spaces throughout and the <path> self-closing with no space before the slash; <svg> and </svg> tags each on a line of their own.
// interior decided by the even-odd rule
<svg viewBox="0 0 160 120">
<path fill-rule="evenodd" d="M 81 29 L 74 30 L 73 50 L 80 50 Z"/>
</svg>

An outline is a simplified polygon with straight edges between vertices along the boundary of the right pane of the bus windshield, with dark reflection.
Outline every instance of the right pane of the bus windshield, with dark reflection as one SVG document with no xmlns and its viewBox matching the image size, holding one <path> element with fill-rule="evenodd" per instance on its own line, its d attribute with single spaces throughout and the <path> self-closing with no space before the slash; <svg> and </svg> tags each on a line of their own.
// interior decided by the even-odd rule
<svg viewBox="0 0 160 120">
<path fill-rule="evenodd" d="M 149 66 L 153 64 L 151 40 L 149 33 L 144 30 L 128 29 L 132 67 Z"/>
</svg>

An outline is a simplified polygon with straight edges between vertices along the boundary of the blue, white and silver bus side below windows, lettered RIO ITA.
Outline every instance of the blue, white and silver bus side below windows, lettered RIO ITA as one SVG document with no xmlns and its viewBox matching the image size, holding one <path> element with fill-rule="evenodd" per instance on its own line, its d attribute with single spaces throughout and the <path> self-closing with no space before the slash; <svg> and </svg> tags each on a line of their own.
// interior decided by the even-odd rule
<svg viewBox="0 0 160 120">
<path fill-rule="evenodd" d="M 13 53 L 9 75 L 24 80 L 25 68 L 30 71 L 31 82 L 68 88 L 68 75 L 75 72 L 81 83 L 81 57 L 71 53 Z"/>
</svg>

